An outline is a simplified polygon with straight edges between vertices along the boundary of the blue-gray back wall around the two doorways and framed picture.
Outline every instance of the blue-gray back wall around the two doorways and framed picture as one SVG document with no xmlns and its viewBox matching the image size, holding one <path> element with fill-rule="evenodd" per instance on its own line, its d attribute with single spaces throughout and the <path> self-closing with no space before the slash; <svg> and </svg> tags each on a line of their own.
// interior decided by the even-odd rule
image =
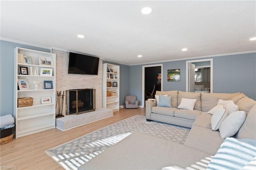
<svg viewBox="0 0 256 170">
<path fill-rule="evenodd" d="M 256 100 L 256 53 L 226 55 L 212 58 L 214 93 L 241 92 Z M 163 62 L 162 64 L 163 91 L 186 91 L 186 60 L 169 61 Z M 152 65 L 152 63 L 150 65 Z M 139 101 L 142 101 L 142 66 L 143 65 L 130 66 L 130 75 L 132 75 L 130 77 L 130 93 L 136 94 Z M 167 81 L 168 69 L 180 69 L 180 82 Z"/>
</svg>

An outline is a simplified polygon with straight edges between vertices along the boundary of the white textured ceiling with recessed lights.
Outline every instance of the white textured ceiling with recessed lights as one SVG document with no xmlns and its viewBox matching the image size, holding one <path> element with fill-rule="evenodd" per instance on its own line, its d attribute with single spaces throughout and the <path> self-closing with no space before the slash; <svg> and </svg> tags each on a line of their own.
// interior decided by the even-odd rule
<svg viewBox="0 0 256 170">
<path fill-rule="evenodd" d="M 126 65 L 256 51 L 256 41 L 249 40 L 256 37 L 254 0 L 1 0 L 0 6 L 2 40 L 96 55 Z M 153 12 L 141 14 L 145 6 Z"/>
</svg>

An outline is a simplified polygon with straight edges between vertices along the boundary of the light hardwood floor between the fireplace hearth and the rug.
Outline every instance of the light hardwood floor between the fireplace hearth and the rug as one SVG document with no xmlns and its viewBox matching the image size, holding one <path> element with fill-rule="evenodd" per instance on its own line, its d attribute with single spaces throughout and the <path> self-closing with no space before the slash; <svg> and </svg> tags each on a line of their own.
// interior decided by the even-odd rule
<svg viewBox="0 0 256 170">
<path fill-rule="evenodd" d="M 145 108 L 120 109 L 112 117 L 64 132 L 54 128 L 13 139 L 0 146 L 1 169 L 11 166 L 18 170 L 62 170 L 44 151 L 134 115 L 145 115 Z"/>
</svg>

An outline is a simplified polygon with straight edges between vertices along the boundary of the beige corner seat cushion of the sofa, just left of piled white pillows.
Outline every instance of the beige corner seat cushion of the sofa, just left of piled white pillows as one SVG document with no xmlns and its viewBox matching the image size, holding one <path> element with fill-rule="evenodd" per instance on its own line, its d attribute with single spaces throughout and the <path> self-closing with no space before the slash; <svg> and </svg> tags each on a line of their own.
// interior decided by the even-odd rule
<svg viewBox="0 0 256 170">
<path fill-rule="evenodd" d="M 212 129 L 211 119 L 212 119 L 211 114 L 202 112 L 200 115 L 196 117 L 196 120 L 194 121 L 192 127 L 198 126 L 198 127 Z"/>
</svg>

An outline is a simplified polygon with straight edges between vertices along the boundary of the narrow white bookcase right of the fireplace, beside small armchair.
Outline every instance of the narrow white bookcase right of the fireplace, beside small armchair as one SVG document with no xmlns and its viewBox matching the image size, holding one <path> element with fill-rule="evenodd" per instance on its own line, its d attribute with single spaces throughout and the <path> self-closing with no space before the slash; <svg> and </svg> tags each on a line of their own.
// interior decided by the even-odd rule
<svg viewBox="0 0 256 170">
<path fill-rule="evenodd" d="M 120 66 L 104 63 L 102 71 L 102 107 L 119 111 Z"/>
</svg>

